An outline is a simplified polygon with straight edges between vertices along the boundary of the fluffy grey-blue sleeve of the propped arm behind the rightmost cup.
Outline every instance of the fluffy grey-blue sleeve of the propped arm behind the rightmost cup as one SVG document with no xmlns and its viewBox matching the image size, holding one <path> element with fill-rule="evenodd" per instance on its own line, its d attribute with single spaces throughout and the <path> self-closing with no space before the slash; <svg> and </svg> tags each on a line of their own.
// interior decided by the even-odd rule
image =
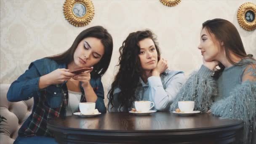
<svg viewBox="0 0 256 144">
<path fill-rule="evenodd" d="M 195 110 L 207 112 L 218 95 L 216 80 L 213 80 L 212 74 L 213 71 L 204 65 L 198 72 L 194 72 L 177 94 L 170 111 L 178 108 L 178 101 L 195 101 Z"/>
</svg>

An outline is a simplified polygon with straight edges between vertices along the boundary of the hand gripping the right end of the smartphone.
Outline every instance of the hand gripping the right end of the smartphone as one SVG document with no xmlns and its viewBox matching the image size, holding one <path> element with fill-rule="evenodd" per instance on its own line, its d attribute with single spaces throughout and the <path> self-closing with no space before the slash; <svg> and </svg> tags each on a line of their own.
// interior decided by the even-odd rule
<svg viewBox="0 0 256 144">
<path fill-rule="evenodd" d="M 82 72 L 82 73 L 79 74 L 79 75 L 75 75 L 75 76 L 73 77 L 73 79 L 82 82 L 82 87 L 85 88 L 85 87 L 87 87 L 87 86 L 90 84 L 90 80 L 91 80 L 91 74 L 90 74 L 90 72 L 91 72 L 91 71 L 93 71 L 93 67 L 92 67 L 91 70 Z"/>
</svg>

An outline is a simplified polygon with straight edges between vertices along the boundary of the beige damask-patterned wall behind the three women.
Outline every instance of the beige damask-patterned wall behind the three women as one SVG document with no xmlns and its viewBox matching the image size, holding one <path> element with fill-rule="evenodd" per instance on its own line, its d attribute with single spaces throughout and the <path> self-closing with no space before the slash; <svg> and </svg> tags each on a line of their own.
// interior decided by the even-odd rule
<svg viewBox="0 0 256 144">
<path fill-rule="evenodd" d="M 65 0 L 0 0 L 0 83 L 11 83 L 31 61 L 67 50 L 83 29 L 106 27 L 114 39 L 110 67 L 104 75 L 105 93 L 119 57 L 118 48 L 130 32 L 149 28 L 158 36 L 170 69 L 189 75 L 202 64 L 197 50 L 201 24 L 223 18 L 237 27 L 245 50 L 256 56 L 256 30 L 248 32 L 236 14 L 245 2 L 256 0 L 182 0 L 167 7 L 159 0 L 92 0 L 95 16 L 86 27 L 74 27 L 64 19 Z"/>
</svg>

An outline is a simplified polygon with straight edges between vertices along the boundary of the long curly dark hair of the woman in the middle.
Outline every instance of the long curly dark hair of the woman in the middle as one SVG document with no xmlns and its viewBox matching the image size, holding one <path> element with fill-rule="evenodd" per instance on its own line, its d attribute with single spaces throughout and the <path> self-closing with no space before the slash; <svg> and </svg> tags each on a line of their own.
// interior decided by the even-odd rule
<svg viewBox="0 0 256 144">
<path fill-rule="evenodd" d="M 108 92 L 108 110 L 109 104 L 112 105 L 110 109 L 114 107 L 115 88 L 120 88 L 121 90 L 117 96 L 117 101 L 121 104 L 119 110 L 123 108 L 125 112 L 128 112 L 131 109 L 132 103 L 136 99 L 135 91 L 141 86 L 139 83 L 139 77 L 143 74 L 143 69 L 141 68 L 141 62 L 139 59 L 140 47 L 138 43 L 145 38 L 153 40 L 157 51 L 157 57 L 159 59 L 160 51 L 154 33 L 148 29 L 130 33 L 125 41 L 123 41 L 123 45 L 119 48 L 119 63 L 116 65 L 119 66 L 119 70 L 111 85 L 111 89 Z"/>
</svg>

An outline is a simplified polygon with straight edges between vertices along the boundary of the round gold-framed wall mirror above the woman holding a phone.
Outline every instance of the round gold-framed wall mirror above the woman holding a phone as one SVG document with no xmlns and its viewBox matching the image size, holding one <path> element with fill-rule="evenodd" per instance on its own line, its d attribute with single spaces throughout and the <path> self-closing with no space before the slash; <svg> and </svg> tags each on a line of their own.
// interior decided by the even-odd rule
<svg viewBox="0 0 256 144">
<path fill-rule="evenodd" d="M 94 6 L 91 0 L 66 0 L 63 11 L 67 21 L 75 27 L 86 26 L 94 16 Z"/>
</svg>

